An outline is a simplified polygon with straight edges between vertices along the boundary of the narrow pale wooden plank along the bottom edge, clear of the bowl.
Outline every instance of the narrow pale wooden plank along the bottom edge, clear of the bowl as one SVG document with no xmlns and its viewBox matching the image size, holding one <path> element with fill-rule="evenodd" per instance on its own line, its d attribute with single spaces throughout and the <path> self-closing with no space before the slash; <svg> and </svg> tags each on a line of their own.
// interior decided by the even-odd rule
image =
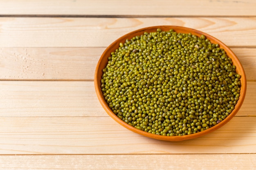
<svg viewBox="0 0 256 170">
<path fill-rule="evenodd" d="M 256 167 L 255 159 L 256 154 L 2 155 L 0 168 L 1 170 L 252 170 Z"/>
</svg>

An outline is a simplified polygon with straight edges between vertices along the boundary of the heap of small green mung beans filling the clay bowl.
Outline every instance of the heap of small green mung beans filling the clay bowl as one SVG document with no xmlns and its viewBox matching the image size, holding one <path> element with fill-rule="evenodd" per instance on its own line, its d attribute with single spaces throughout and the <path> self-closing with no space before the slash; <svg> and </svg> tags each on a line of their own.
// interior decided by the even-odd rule
<svg viewBox="0 0 256 170">
<path fill-rule="evenodd" d="M 190 135 L 234 110 L 240 77 L 204 35 L 157 29 L 120 42 L 103 69 L 101 91 L 113 113 L 139 130 Z"/>
</svg>

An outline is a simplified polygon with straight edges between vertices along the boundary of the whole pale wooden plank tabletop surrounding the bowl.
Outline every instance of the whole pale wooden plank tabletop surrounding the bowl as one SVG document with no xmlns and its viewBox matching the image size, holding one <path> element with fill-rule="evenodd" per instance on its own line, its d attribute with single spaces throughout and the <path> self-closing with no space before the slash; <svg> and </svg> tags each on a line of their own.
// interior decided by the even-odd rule
<svg viewBox="0 0 256 170">
<path fill-rule="evenodd" d="M 247 75 L 242 108 L 215 132 L 159 141 L 117 124 L 94 91 L 106 47 L 147 26 L 209 33 Z M 0 0 L 1 170 L 256 168 L 255 0 Z"/>
</svg>

